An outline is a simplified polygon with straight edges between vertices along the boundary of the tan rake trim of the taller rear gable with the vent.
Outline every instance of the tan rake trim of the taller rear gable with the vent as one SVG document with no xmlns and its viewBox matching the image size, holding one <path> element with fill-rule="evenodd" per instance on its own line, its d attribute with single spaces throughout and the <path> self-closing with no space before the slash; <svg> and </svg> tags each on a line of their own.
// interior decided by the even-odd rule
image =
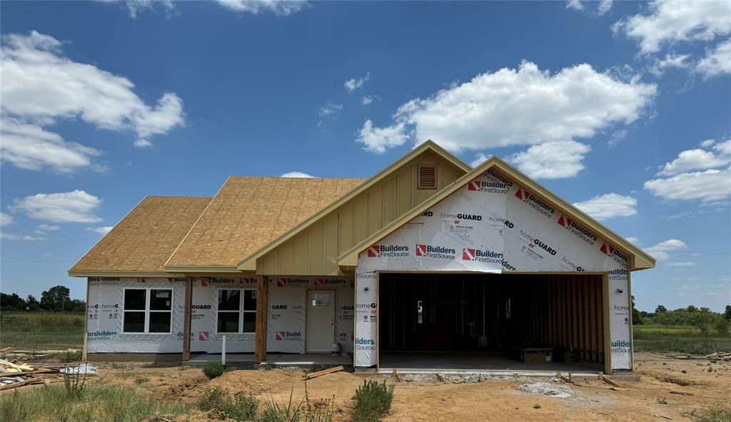
<svg viewBox="0 0 731 422">
<path fill-rule="evenodd" d="M 325 208 L 322 208 L 322 210 L 319 210 L 319 212 L 311 215 L 306 220 L 302 220 L 298 225 L 292 227 L 291 229 L 282 231 L 279 237 L 276 237 L 276 239 L 273 238 L 273 240 L 271 240 L 270 242 L 261 245 L 261 248 L 252 251 L 253 253 L 250 253 L 248 256 L 243 255 L 243 258 L 240 260 L 240 262 L 238 262 L 238 269 L 242 271 L 254 271 L 256 269 L 257 258 L 261 258 L 266 253 L 269 253 L 271 250 L 279 247 L 279 245 L 287 242 L 287 240 L 292 239 L 292 237 L 295 237 L 297 234 L 300 234 L 302 231 L 308 229 L 308 227 L 310 227 L 312 224 L 324 218 L 325 215 L 328 215 L 330 214 L 330 212 L 337 210 L 338 207 L 341 207 L 341 205 L 345 204 L 351 199 L 354 199 L 360 193 L 363 193 L 368 190 L 368 188 L 371 188 L 371 186 L 376 185 L 376 183 L 379 183 L 382 180 L 385 180 L 391 174 L 394 174 L 396 171 L 398 171 L 398 169 L 401 169 L 402 166 L 406 165 L 414 158 L 417 158 L 421 154 L 425 153 L 425 151 L 431 151 L 433 153 L 436 153 L 438 156 L 444 158 L 450 164 L 454 165 L 458 169 L 461 169 L 463 172 L 469 172 L 471 170 L 471 167 L 465 164 L 459 158 L 452 156 L 452 154 L 447 152 L 447 150 L 444 150 L 444 148 L 440 147 L 439 145 L 436 145 L 436 143 L 434 143 L 431 139 L 427 139 L 426 142 L 419 145 L 418 147 L 415 147 L 411 152 L 398 159 L 398 161 L 395 161 L 395 163 L 387 166 L 378 174 L 366 180 L 364 183 L 358 185 L 357 188 L 346 193 L 344 196 L 341 196 L 337 201 L 333 202 Z"/>
</svg>

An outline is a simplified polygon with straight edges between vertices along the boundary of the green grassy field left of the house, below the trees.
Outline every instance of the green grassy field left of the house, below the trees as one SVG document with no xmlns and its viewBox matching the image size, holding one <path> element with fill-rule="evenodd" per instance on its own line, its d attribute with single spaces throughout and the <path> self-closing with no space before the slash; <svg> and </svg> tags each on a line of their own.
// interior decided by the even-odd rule
<svg viewBox="0 0 731 422">
<path fill-rule="evenodd" d="M 0 346 L 19 350 L 80 349 L 84 314 L 69 312 L 2 312 Z M 6 320 L 8 317 L 15 317 Z"/>
</svg>

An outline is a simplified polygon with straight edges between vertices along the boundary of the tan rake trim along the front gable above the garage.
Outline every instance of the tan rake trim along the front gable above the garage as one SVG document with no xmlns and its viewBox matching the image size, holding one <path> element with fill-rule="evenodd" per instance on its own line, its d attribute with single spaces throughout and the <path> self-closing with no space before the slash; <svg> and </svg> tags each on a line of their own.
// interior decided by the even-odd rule
<svg viewBox="0 0 731 422">
<path fill-rule="evenodd" d="M 380 239 L 383 239 L 393 233 L 393 231 L 399 229 L 401 226 L 404 226 L 404 224 L 408 223 L 410 220 L 417 218 L 423 212 L 429 210 L 435 204 L 446 199 L 447 196 L 450 196 L 452 193 L 455 193 L 455 191 L 469 183 L 470 180 L 474 180 L 476 177 L 479 177 L 480 174 L 491 168 L 497 169 L 513 182 L 522 185 L 523 188 L 527 188 L 531 193 L 534 193 L 543 201 L 552 204 L 557 210 L 564 213 L 564 215 L 567 215 L 569 218 L 579 222 L 582 226 L 585 226 L 587 229 L 596 233 L 599 237 L 602 237 L 602 239 L 611 242 L 618 250 L 629 256 L 629 269 L 631 271 L 654 268 L 655 258 L 649 256 L 648 253 L 645 253 L 645 251 L 637 248 L 637 246 L 632 245 L 632 243 L 628 242 L 624 239 L 624 237 L 621 237 L 610 229 L 607 229 L 607 227 L 602 223 L 599 223 L 599 221 L 594 220 L 594 218 L 591 218 L 585 212 L 558 197 L 556 193 L 549 191 L 535 180 L 526 176 L 526 174 L 523 174 L 518 171 L 518 169 L 515 169 L 515 167 L 510 166 L 510 164 L 507 164 L 505 161 L 496 156 L 489 158 L 470 172 L 467 172 L 463 175 L 463 177 L 460 177 L 457 181 L 455 181 L 455 183 L 444 188 L 440 193 L 432 196 L 418 207 L 414 207 L 413 210 L 407 212 L 401 218 L 393 221 L 393 223 L 390 223 L 388 226 L 377 231 L 371 237 L 368 237 L 368 239 L 363 240 L 363 242 L 360 242 L 358 245 L 355 245 L 355 247 L 341 254 L 341 256 L 338 256 L 338 265 L 357 266 L 358 254 L 363 252 L 363 250 L 366 250 L 369 246 L 374 245 Z"/>
</svg>

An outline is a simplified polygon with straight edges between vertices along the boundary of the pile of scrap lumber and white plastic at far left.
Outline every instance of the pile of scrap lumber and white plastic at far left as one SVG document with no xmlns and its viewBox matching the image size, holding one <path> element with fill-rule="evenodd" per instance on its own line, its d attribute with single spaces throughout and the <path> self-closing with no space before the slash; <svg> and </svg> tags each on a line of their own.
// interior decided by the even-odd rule
<svg viewBox="0 0 731 422">
<path fill-rule="evenodd" d="M 96 368 L 88 364 L 81 364 L 78 367 L 71 368 L 56 366 L 35 368 L 20 361 L 12 362 L 0 359 L 0 390 L 9 390 L 10 388 L 18 388 L 23 385 L 60 382 L 63 380 L 61 372 L 64 372 L 64 369 L 70 369 L 68 373 L 81 373 L 85 375 L 94 375 L 96 373 Z M 93 369 L 93 372 L 91 369 Z"/>
</svg>

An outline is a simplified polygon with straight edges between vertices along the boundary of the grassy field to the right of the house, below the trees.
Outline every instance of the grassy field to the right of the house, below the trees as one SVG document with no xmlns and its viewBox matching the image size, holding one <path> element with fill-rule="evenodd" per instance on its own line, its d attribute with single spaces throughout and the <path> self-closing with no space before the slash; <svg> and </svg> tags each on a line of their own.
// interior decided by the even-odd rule
<svg viewBox="0 0 731 422">
<path fill-rule="evenodd" d="M 635 350 L 694 355 L 731 350 L 731 334 L 702 333 L 691 326 L 634 326 Z"/>
</svg>

